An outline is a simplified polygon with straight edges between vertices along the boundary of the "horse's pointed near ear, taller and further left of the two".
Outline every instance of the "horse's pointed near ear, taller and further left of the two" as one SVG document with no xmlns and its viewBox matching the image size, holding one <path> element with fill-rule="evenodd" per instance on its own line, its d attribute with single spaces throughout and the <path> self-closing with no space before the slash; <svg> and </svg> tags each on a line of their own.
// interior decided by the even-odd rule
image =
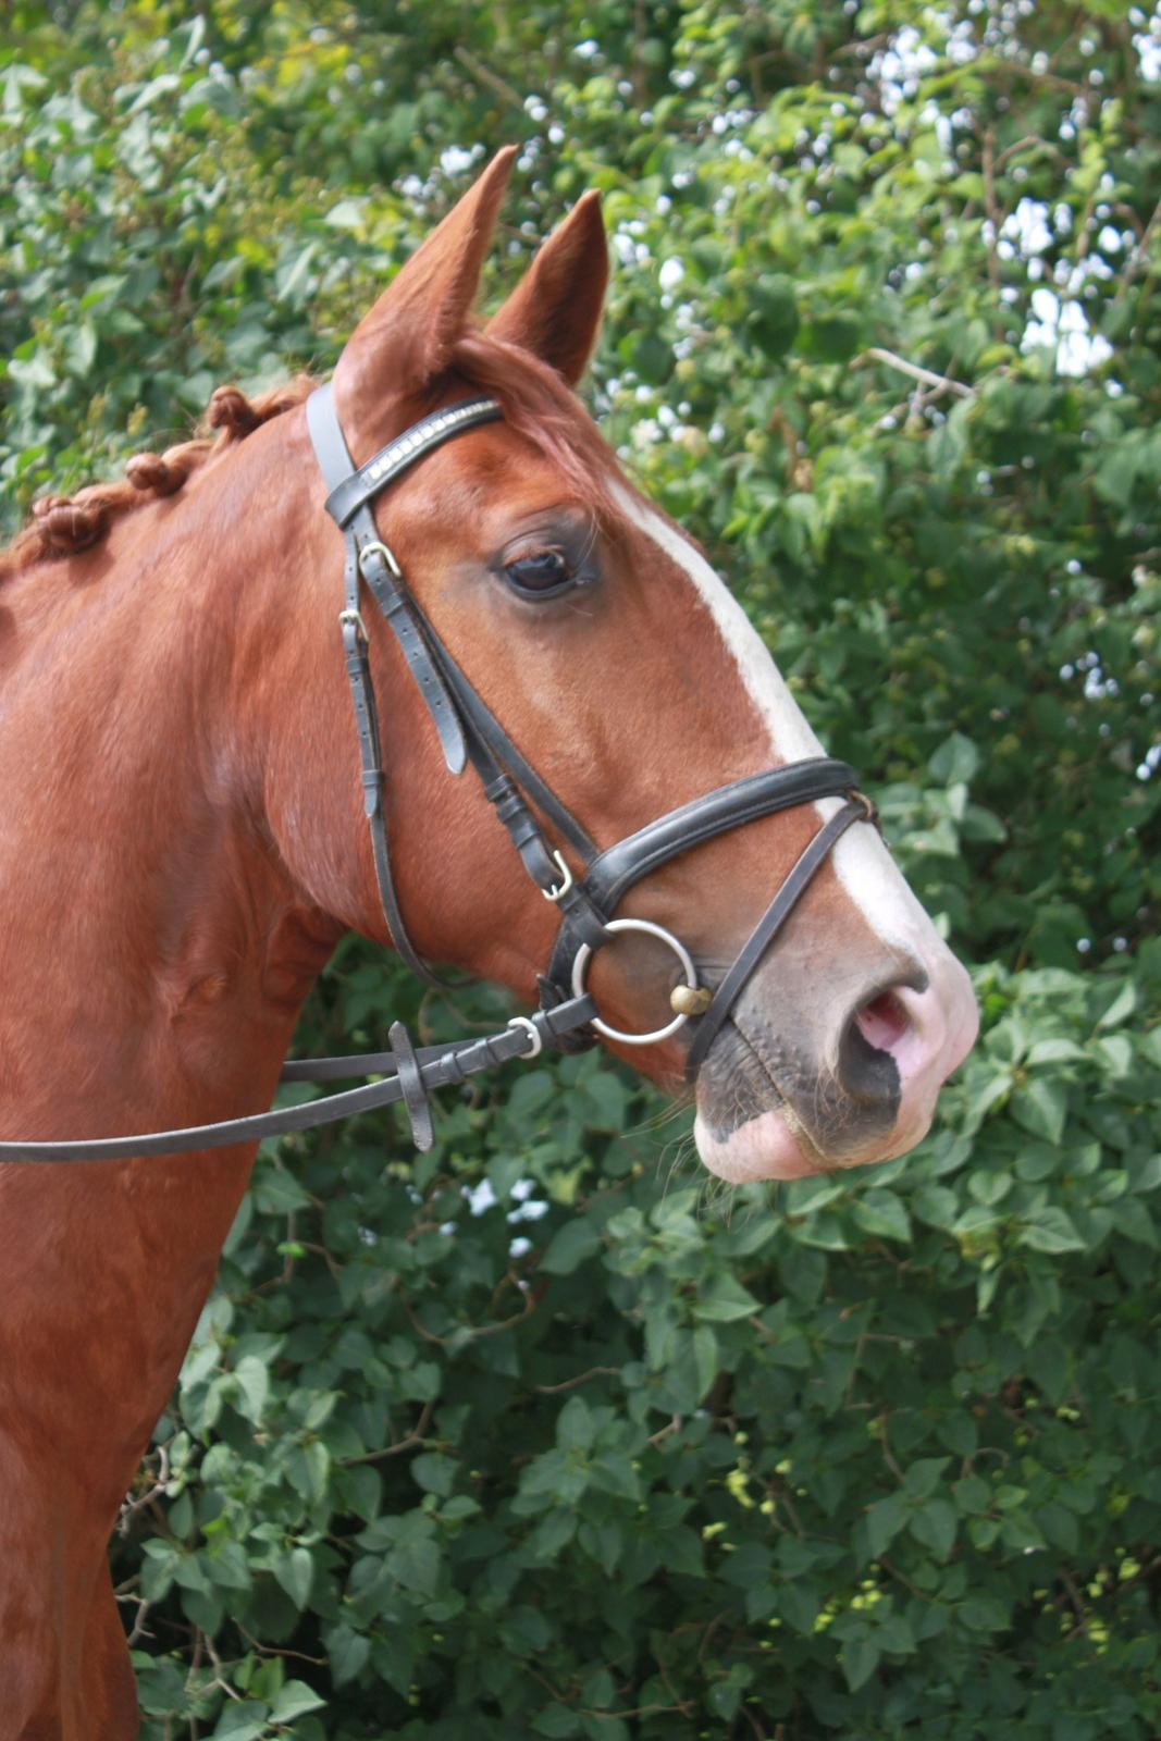
<svg viewBox="0 0 1161 1741">
<path fill-rule="evenodd" d="M 493 157 L 346 341 L 334 381 L 355 423 L 400 390 L 426 387 L 447 367 L 472 312 L 515 153 L 507 145 Z"/>
</svg>

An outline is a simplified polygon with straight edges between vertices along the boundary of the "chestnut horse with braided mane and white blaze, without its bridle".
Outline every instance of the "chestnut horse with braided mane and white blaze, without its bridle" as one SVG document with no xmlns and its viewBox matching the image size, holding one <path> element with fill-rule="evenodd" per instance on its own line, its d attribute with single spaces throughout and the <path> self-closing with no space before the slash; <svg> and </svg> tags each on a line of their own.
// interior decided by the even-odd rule
<svg viewBox="0 0 1161 1741">
<path fill-rule="evenodd" d="M 607 273 L 595 197 L 472 324 L 510 157 L 362 320 L 334 397 L 359 461 L 433 407 L 500 400 L 503 420 L 379 496 L 379 536 L 505 729 L 609 844 L 820 752 L 740 606 L 571 393 Z M 336 629 L 343 545 L 303 397 L 218 397 L 212 451 L 134 461 L 136 493 L 50 501 L 3 559 L 0 1137 L 259 1111 L 338 938 L 390 944 Z M 378 613 L 367 625 L 409 930 L 426 958 L 529 998 L 555 912 L 479 783 L 444 770 Z M 722 834 L 623 909 L 675 930 L 712 984 L 834 808 Z M 668 965 L 653 944 L 606 949 L 604 1017 L 667 1020 Z M 973 1034 L 963 968 L 855 823 L 698 1074 L 701 1158 L 742 1180 L 900 1154 Z M 674 1081 L 682 1055 L 675 1036 L 634 1062 Z M 252 1153 L 0 1166 L 2 1741 L 136 1732 L 106 1543 Z"/>
</svg>

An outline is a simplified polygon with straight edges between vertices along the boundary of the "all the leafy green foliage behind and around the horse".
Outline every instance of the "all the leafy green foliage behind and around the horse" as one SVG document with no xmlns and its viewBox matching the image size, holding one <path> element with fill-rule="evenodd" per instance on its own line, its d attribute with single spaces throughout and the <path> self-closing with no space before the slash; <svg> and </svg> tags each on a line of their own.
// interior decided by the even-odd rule
<svg viewBox="0 0 1161 1741">
<path fill-rule="evenodd" d="M 985 1018 L 858 1177 L 707 1193 L 594 1057 L 265 1153 L 113 1548 L 146 1741 L 1161 1731 L 1159 73 L 1123 0 L 9 5 L 10 526 L 520 141 L 496 294 L 601 186 L 597 411 Z M 301 1043 L 500 1013 L 350 944 Z"/>
</svg>

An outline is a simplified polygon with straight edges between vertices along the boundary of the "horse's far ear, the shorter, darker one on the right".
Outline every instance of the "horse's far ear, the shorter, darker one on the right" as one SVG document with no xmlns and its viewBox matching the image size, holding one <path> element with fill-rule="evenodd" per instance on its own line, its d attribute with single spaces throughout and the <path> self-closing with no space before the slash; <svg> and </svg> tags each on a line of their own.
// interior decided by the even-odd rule
<svg viewBox="0 0 1161 1741">
<path fill-rule="evenodd" d="M 487 333 L 531 350 L 576 387 L 597 343 L 607 282 L 601 195 L 585 193 L 487 322 Z"/>
</svg>

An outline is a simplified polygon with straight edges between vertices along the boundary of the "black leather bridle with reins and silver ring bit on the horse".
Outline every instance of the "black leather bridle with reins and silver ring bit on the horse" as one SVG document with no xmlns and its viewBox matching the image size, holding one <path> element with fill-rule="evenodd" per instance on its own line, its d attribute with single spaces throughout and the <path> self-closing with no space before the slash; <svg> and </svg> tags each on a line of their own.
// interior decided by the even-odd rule
<svg viewBox="0 0 1161 1741">
<path fill-rule="evenodd" d="M 545 1045 L 574 1052 L 595 1045 L 595 1034 L 623 1045 L 654 1045 L 674 1034 L 689 1020 L 688 1013 L 675 1013 L 670 1022 L 648 1034 L 627 1034 L 602 1022 L 585 991 L 592 954 L 620 931 L 644 931 L 674 951 L 686 991 L 698 992 L 696 968 L 677 937 L 646 919 L 614 918 L 625 893 L 679 853 L 691 851 L 745 822 L 822 797 L 842 797 L 844 804 L 822 825 L 792 865 L 733 966 L 715 987 L 708 1006 L 695 1017 L 696 1029 L 686 1053 L 686 1076 L 693 1079 L 745 984 L 836 841 L 855 822 L 874 822 L 874 806 L 858 792 L 855 770 L 848 763 L 818 756 L 733 780 L 658 817 L 614 846 L 597 850 L 583 825 L 512 742 L 456 665 L 418 601 L 407 592 L 399 562 L 379 538 L 371 508 L 376 496 L 425 454 L 501 416 L 494 399 L 461 400 L 414 423 L 366 465 L 357 467 L 339 427 L 331 387 L 317 388 L 306 402 L 310 437 L 329 489 L 327 512 L 345 538 L 346 597 L 339 625 L 359 731 L 364 810 L 392 942 L 419 978 L 442 985 L 407 935 L 392 876 L 379 724 L 362 620 L 364 585 L 395 635 L 426 703 L 447 770 L 461 775 L 472 763 L 484 797 L 508 830 L 524 869 L 545 900 L 560 912 L 548 968 L 540 975 L 540 1010 L 513 1017 L 501 1032 L 484 1039 L 416 1048 L 404 1024 L 395 1022 L 388 1034 L 390 1052 L 289 1062 L 282 1069 L 282 1081 L 336 1081 L 371 1074 L 386 1078 L 306 1106 L 214 1125 L 193 1125 L 185 1130 L 101 1137 L 89 1142 L 0 1142 L 0 1161 L 103 1161 L 188 1154 L 312 1130 L 392 1102 L 404 1104 L 416 1146 L 428 1149 L 433 1140 L 430 1095 L 437 1088 L 463 1083 L 477 1071 L 512 1059 L 534 1059 Z M 562 848 L 552 844 L 545 825 L 580 860 L 583 865 L 580 876 L 571 869 Z M 677 992 L 674 996 L 677 998 Z"/>
</svg>

